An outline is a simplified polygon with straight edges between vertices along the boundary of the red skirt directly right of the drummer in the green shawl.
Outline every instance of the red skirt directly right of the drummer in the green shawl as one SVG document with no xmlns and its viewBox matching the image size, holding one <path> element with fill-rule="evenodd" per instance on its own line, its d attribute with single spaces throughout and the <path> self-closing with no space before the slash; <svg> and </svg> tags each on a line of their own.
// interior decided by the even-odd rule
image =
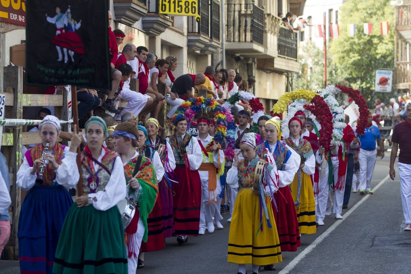
<svg viewBox="0 0 411 274">
<path fill-rule="evenodd" d="M 163 207 L 161 198 L 157 197 L 154 208 L 147 218 L 148 237 L 147 242 L 141 242 L 140 251 L 150 252 L 164 249 L 163 221 L 161 214 Z"/>
</svg>

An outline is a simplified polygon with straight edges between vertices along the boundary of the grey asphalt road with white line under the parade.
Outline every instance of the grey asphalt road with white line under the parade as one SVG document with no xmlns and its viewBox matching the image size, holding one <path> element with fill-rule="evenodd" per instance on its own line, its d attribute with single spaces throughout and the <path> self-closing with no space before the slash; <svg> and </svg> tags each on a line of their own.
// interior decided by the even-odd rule
<svg viewBox="0 0 411 274">
<path fill-rule="evenodd" d="M 409 273 L 411 232 L 402 230 L 398 170 L 395 181 L 387 177 L 390 154 L 386 155 L 376 162 L 373 195 L 351 193 L 343 220 L 326 217 L 316 234 L 302 235 L 297 252 L 282 253 L 277 271 L 260 273 Z M 169 238 L 162 251 L 145 253 L 145 267 L 137 273 L 237 273 L 237 265 L 227 262 L 229 214 L 223 216 L 222 230 L 189 237 L 183 246 Z"/>
</svg>

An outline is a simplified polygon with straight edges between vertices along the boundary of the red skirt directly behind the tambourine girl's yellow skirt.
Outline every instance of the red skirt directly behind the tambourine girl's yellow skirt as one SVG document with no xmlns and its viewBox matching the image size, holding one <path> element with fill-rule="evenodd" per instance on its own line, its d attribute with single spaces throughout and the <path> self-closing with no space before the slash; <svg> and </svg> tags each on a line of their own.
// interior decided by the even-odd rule
<svg viewBox="0 0 411 274">
<path fill-rule="evenodd" d="M 301 246 L 300 231 L 298 229 L 296 207 L 294 206 L 290 188 L 288 186 L 280 187 L 274 193 L 274 199 L 275 203 L 277 203 L 278 212 L 275 210 L 273 201 L 271 201 L 271 205 L 275 223 L 277 224 L 281 252 L 297 251 L 297 247 Z"/>
</svg>

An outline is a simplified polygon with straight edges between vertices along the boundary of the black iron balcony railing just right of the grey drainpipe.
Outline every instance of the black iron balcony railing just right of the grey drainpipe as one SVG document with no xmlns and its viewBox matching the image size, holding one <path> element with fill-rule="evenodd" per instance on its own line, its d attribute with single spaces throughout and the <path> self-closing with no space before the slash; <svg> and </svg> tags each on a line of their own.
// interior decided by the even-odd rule
<svg viewBox="0 0 411 274">
<path fill-rule="evenodd" d="M 254 42 L 264 45 L 263 9 L 254 4 L 227 4 L 226 14 L 227 42 Z"/>
</svg>

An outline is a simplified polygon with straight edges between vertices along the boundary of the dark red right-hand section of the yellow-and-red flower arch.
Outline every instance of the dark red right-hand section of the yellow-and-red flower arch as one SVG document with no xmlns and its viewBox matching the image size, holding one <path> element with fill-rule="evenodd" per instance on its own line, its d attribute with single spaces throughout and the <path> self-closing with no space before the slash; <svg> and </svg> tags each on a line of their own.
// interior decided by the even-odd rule
<svg viewBox="0 0 411 274">
<path fill-rule="evenodd" d="M 314 105 L 305 105 L 304 108 L 311 112 L 315 117 L 321 117 L 319 121 L 321 125 L 321 135 L 318 142 L 326 151 L 329 151 L 332 140 L 332 131 L 334 130 L 330 108 L 323 97 L 319 95 L 314 96 L 311 103 Z"/>
</svg>

